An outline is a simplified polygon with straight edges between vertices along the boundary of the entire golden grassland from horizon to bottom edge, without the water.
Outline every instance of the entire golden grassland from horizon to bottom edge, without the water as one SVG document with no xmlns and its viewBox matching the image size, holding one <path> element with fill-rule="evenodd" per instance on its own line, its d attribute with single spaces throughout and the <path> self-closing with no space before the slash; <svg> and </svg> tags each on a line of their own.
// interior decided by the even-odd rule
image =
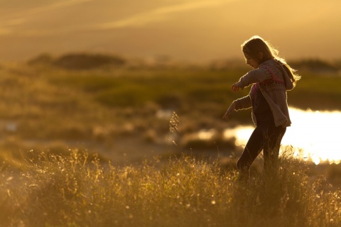
<svg viewBox="0 0 341 227">
<path fill-rule="evenodd" d="M 251 124 L 249 111 L 222 121 L 247 94 L 229 87 L 248 70 L 1 63 L 0 223 L 340 226 L 341 192 L 330 185 L 341 182 L 339 165 L 282 157 L 274 175 L 255 167 L 249 183 L 237 180 L 238 150 L 219 133 Z M 341 77 L 301 76 L 289 105 L 341 109 Z M 210 128 L 215 141 L 185 140 Z"/>
</svg>

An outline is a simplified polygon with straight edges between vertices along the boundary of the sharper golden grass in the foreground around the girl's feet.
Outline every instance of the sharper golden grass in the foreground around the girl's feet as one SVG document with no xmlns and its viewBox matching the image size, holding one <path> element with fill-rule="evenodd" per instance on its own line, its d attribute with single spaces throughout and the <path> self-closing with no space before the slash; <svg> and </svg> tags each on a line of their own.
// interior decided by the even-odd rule
<svg viewBox="0 0 341 227">
<path fill-rule="evenodd" d="M 341 191 L 281 157 L 249 182 L 219 160 L 114 166 L 72 150 L 31 152 L 0 174 L 3 226 L 340 226 Z M 11 172 L 11 174 L 10 174 Z"/>
</svg>

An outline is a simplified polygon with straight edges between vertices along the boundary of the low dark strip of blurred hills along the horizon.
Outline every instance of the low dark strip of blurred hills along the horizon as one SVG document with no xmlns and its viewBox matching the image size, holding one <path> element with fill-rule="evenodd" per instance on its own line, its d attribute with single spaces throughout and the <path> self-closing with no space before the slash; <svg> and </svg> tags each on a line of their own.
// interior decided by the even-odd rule
<svg viewBox="0 0 341 227">
<path fill-rule="evenodd" d="M 155 56 L 148 60 L 146 59 L 127 59 L 119 55 L 101 54 L 95 52 L 70 52 L 59 57 L 52 57 L 52 55 L 44 53 L 28 60 L 29 65 L 54 65 L 62 67 L 67 70 L 91 70 L 103 66 L 127 66 L 127 67 L 183 67 L 196 66 L 208 67 L 210 70 L 229 70 L 232 68 L 249 69 L 243 60 L 229 59 L 229 60 L 213 60 L 207 64 L 195 65 L 190 62 L 177 62 L 167 56 Z M 318 74 L 340 74 L 341 60 L 328 62 L 320 59 L 302 59 L 288 61 L 288 64 L 293 69 L 301 72 L 315 72 Z"/>
</svg>

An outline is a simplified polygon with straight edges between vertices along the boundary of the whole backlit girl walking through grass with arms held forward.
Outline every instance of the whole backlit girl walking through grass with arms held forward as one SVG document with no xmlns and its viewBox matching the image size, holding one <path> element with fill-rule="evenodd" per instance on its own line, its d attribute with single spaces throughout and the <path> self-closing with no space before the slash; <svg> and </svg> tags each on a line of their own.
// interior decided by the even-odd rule
<svg viewBox="0 0 341 227">
<path fill-rule="evenodd" d="M 241 177 L 249 177 L 249 167 L 263 150 L 264 170 L 274 165 L 286 127 L 291 125 L 286 91 L 293 89 L 300 79 L 278 51 L 259 36 L 253 36 L 242 44 L 247 65 L 254 68 L 239 82 L 232 85 L 238 92 L 252 85 L 249 95 L 232 102 L 223 118 L 228 121 L 233 111 L 252 108 L 252 120 L 256 128 L 251 134 L 242 156 L 237 162 Z M 271 163 L 272 162 L 272 163 Z"/>
</svg>

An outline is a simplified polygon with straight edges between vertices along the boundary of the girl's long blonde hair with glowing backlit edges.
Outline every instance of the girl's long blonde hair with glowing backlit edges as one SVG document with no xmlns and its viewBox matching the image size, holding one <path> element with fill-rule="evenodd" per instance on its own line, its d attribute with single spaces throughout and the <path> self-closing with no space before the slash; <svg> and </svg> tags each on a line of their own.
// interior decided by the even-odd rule
<svg viewBox="0 0 341 227">
<path fill-rule="evenodd" d="M 242 51 L 244 54 L 249 55 L 252 59 L 259 62 L 259 64 L 271 59 L 280 62 L 286 70 L 288 76 L 291 78 L 291 82 L 293 82 L 294 86 L 296 85 L 298 79 L 301 79 L 300 76 L 295 74 L 296 70 L 293 70 L 293 68 L 286 63 L 286 60 L 278 56 L 278 50 L 276 50 L 270 43 L 266 42 L 266 40 L 259 37 L 258 35 L 254 35 L 249 38 L 249 40 L 246 40 L 242 44 Z M 263 55 L 259 55 L 260 52 L 263 53 Z"/>
</svg>

